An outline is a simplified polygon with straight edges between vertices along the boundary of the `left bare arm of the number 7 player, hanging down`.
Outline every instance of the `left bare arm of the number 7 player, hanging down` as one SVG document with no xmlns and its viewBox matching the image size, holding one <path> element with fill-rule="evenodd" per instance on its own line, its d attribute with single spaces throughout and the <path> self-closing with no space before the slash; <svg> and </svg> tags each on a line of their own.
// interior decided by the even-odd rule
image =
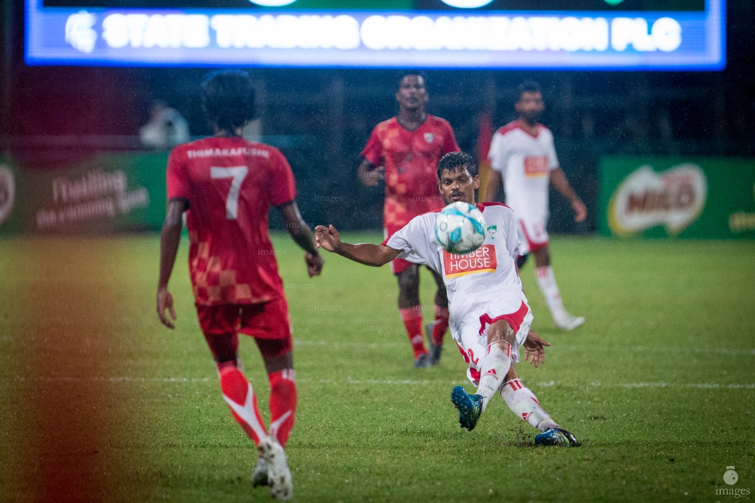
<svg viewBox="0 0 755 503">
<path fill-rule="evenodd" d="M 186 211 L 186 201 L 183 201 L 183 199 L 170 201 L 160 234 L 160 278 L 157 281 L 157 315 L 160 317 L 162 324 L 171 329 L 174 328 L 174 324 L 165 315 L 165 311 L 167 310 L 170 313 L 173 320 L 176 319 L 176 311 L 173 308 L 173 296 L 168 292 L 168 281 L 171 279 L 173 265 L 176 262 L 178 243 L 181 240 L 184 211 Z"/>
</svg>

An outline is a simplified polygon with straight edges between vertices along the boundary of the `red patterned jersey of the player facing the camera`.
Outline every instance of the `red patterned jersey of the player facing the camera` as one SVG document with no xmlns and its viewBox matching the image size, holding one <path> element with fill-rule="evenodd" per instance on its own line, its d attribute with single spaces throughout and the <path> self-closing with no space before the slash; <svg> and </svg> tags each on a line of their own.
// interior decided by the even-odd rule
<svg viewBox="0 0 755 503">
<path fill-rule="evenodd" d="M 389 235 L 414 216 L 445 205 L 437 186 L 438 161 L 459 150 L 451 124 L 433 115 L 413 131 L 395 117 L 375 126 L 362 157 L 385 167 L 383 225 Z"/>
</svg>

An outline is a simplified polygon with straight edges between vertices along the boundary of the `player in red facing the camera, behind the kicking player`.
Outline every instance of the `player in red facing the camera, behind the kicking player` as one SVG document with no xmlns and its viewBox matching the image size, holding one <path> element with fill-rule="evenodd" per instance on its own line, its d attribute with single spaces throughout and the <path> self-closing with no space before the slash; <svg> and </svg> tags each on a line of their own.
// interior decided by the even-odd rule
<svg viewBox="0 0 755 503">
<path fill-rule="evenodd" d="M 414 216 L 443 207 L 443 198 L 436 190 L 436 167 L 444 154 L 459 150 L 451 124 L 425 112 L 427 100 L 424 75 L 405 73 L 396 91 L 399 115 L 377 124 L 362 150 L 362 183 L 376 187 L 378 179 L 385 178 L 383 227 L 389 238 Z M 428 354 L 422 339 L 419 268 L 404 259 L 394 260 L 391 268 L 399 280 L 399 312 L 414 349 L 414 367 L 430 367 L 440 359 L 448 328 L 448 299 L 442 278 L 433 272 L 438 291 L 435 320 L 425 327 Z"/>
</svg>

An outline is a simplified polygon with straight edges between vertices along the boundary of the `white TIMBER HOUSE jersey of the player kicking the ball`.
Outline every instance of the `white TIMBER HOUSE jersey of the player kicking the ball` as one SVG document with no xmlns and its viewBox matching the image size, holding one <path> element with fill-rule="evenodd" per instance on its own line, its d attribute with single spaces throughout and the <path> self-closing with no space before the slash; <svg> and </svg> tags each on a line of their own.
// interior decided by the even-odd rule
<svg viewBox="0 0 755 503">
<path fill-rule="evenodd" d="M 485 241 L 467 255 L 448 253 L 436 241 L 438 211 L 415 216 L 384 242 L 400 250 L 399 258 L 427 265 L 442 276 L 452 329 L 458 328 L 464 315 L 481 303 L 507 296 L 519 299 L 516 307 L 522 299 L 526 302 L 514 262 L 519 256 L 519 238 L 513 210 L 501 203 L 482 203 L 477 207 L 488 227 Z"/>
</svg>

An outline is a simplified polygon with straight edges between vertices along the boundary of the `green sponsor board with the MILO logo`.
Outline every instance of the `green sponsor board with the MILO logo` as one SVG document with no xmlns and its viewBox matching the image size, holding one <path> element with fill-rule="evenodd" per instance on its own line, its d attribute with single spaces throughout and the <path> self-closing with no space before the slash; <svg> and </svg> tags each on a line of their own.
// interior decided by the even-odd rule
<svg viewBox="0 0 755 503">
<path fill-rule="evenodd" d="M 599 231 L 643 238 L 755 238 L 755 159 L 606 157 Z"/>
</svg>

